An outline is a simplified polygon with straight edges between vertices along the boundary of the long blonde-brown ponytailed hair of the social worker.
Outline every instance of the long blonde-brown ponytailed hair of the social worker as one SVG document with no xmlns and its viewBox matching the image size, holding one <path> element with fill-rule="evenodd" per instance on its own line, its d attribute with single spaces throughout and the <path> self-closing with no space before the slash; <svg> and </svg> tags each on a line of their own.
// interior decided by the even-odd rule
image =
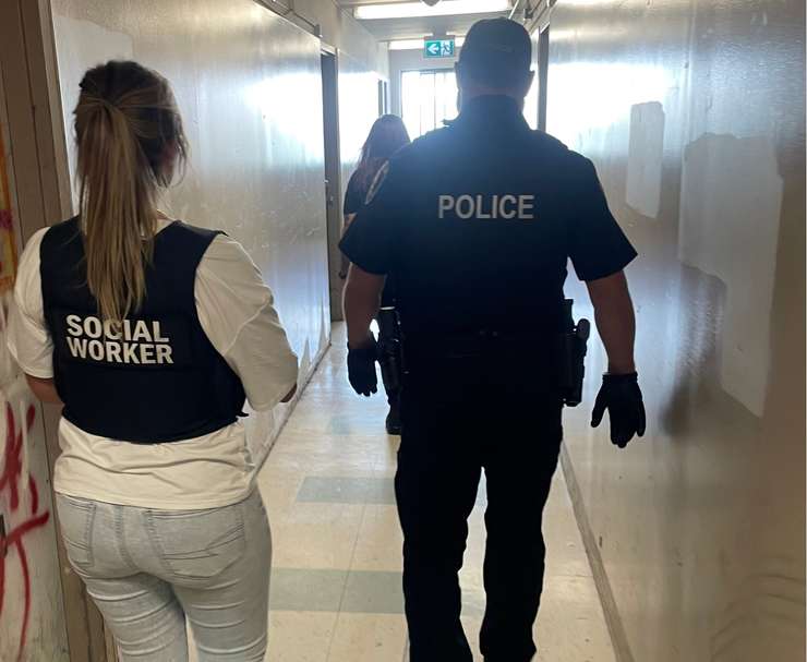
<svg viewBox="0 0 807 662">
<path fill-rule="evenodd" d="M 101 317 L 120 322 L 146 297 L 157 197 L 188 143 L 168 81 L 136 62 L 87 71 L 74 116 L 87 286 Z"/>
</svg>

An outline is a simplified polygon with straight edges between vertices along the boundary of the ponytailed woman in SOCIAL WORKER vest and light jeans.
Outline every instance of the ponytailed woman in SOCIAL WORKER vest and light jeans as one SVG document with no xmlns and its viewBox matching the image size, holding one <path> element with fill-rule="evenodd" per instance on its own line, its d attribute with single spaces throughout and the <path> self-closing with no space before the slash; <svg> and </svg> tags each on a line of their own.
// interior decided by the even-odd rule
<svg viewBox="0 0 807 662">
<path fill-rule="evenodd" d="M 68 557 L 122 662 L 257 662 L 272 544 L 239 418 L 297 388 L 257 267 L 221 232 L 170 220 L 185 160 L 169 83 L 91 69 L 75 115 L 79 216 L 22 256 L 9 349 L 63 404 L 53 489 Z"/>
</svg>

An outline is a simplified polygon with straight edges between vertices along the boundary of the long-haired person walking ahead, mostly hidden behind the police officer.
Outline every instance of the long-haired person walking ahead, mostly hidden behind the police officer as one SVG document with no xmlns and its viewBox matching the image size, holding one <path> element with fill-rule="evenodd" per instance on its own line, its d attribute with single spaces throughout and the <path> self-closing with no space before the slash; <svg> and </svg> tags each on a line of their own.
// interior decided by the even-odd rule
<svg viewBox="0 0 807 662">
<path fill-rule="evenodd" d="M 368 191 L 370 190 L 376 174 L 387 163 L 390 156 L 401 147 L 408 145 L 409 133 L 407 128 L 397 115 L 383 115 L 373 123 L 368 140 L 361 148 L 361 160 L 359 167 L 348 181 L 348 190 L 345 193 L 345 228 L 350 227 L 351 221 L 356 218 L 357 213 L 364 204 Z M 342 254 L 344 262 L 340 270 L 342 278 L 347 277 L 349 261 Z M 387 278 L 382 292 L 382 305 L 395 305 L 395 285 L 392 278 Z M 378 324 L 382 321 L 378 320 Z M 400 407 L 397 389 L 392 384 L 384 384 L 389 402 L 389 413 L 386 419 L 387 434 L 400 434 Z"/>
</svg>

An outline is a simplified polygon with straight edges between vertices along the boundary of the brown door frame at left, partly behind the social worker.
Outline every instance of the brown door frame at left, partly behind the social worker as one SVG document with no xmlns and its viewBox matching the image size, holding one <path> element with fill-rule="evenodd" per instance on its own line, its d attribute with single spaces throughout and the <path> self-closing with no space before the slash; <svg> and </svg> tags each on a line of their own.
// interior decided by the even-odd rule
<svg viewBox="0 0 807 662">
<path fill-rule="evenodd" d="M 72 215 L 67 141 L 62 120 L 56 41 L 49 0 L 0 2 L 0 75 L 12 140 L 17 249 L 40 228 Z M 59 455 L 60 413 L 40 407 L 50 484 Z M 53 511 L 55 518 L 58 518 Z M 71 662 L 115 662 L 104 619 L 72 570 L 57 535 L 62 609 Z"/>
</svg>

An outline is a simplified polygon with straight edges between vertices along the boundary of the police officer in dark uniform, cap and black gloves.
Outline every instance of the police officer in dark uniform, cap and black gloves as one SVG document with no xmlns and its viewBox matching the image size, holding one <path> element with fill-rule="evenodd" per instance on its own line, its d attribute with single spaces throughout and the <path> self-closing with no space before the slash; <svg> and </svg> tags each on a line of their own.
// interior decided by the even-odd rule
<svg viewBox="0 0 807 662">
<path fill-rule="evenodd" d="M 609 356 L 592 424 L 610 412 L 625 446 L 645 431 L 634 312 L 623 268 L 636 252 L 592 164 L 522 118 L 531 44 L 519 24 L 478 22 L 456 67 L 460 113 L 376 178 L 341 249 L 353 387 L 375 389 L 369 325 L 386 274 L 404 334 L 396 494 L 412 662 L 470 661 L 457 573 L 481 470 L 487 489 L 492 662 L 530 660 L 544 571 L 541 513 L 562 438 L 558 334 L 567 260 L 585 280 Z"/>
</svg>

